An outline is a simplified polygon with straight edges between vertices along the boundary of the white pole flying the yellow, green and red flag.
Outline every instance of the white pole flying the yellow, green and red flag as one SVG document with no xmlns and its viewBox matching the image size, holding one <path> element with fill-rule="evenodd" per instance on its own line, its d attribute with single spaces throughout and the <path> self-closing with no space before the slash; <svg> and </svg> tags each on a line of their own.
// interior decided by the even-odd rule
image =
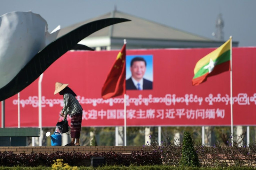
<svg viewBox="0 0 256 170">
<path fill-rule="evenodd" d="M 230 40 L 230 113 L 231 113 L 231 144 L 233 146 L 233 86 L 232 86 L 232 36 L 229 37 Z"/>
</svg>

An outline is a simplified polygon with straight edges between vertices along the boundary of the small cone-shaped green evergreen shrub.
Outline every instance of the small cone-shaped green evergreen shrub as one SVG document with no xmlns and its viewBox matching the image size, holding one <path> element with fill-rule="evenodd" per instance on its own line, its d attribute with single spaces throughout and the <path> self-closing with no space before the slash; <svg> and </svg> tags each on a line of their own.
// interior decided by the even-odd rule
<svg viewBox="0 0 256 170">
<path fill-rule="evenodd" d="M 182 143 L 181 166 L 200 167 L 197 153 L 195 152 L 190 132 L 184 132 Z"/>
</svg>

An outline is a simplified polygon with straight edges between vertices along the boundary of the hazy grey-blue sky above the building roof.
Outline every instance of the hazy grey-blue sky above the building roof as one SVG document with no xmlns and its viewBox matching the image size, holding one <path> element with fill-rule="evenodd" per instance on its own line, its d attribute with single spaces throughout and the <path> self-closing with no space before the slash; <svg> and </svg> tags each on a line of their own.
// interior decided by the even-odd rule
<svg viewBox="0 0 256 170">
<path fill-rule="evenodd" d="M 114 10 L 215 39 L 219 13 L 224 20 L 224 39 L 239 46 L 256 46 L 256 0 L 0 0 L 0 15 L 11 11 L 40 14 L 49 32 Z M 129 18 L 127 18 L 129 19 Z"/>
</svg>

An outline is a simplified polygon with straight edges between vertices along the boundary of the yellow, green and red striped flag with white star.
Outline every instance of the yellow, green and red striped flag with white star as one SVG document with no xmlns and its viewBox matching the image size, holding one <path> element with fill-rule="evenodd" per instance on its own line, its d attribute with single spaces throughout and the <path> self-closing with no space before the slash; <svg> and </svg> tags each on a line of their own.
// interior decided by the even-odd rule
<svg viewBox="0 0 256 170">
<path fill-rule="evenodd" d="M 206 81 L 209 76 L 230 70 L 230 43 L 231 39 L 197 62 L 192 79 L 193 86 Z"/>
</svg>

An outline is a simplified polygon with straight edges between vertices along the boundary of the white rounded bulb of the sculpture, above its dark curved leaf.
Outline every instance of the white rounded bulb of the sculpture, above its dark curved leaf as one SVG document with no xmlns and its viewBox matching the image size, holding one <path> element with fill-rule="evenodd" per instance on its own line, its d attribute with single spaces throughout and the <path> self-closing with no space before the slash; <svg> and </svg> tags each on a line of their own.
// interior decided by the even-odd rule
<svg viewBox="0 0 256 170">
<path fill-rule="evenodd" d="M 0 21 L 0 88 L 2 88 L 40 50 L 56 39 L 60 26 L 49 33 L 45 19 L 31 11 L 7 13 L 0 16 Z"/>
</svg>

